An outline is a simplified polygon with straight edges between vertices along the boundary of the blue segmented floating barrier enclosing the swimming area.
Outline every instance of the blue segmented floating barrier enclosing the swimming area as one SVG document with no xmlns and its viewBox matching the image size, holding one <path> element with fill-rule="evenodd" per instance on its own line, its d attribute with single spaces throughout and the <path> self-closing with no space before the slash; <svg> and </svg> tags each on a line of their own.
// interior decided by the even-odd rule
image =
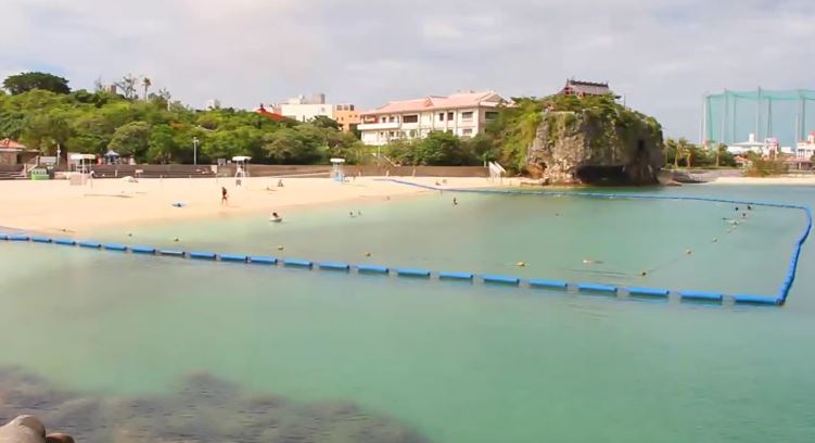
<svg viewBox="0 0 815 443">
<path fill-rule="evenodd" d="M 62 246 L 79 246 L 82 249 L 98 250 L 98 251 L 115 251 L 115 252 L 129 252 L 132 254 L 151 255 L 151 256 L 169 256 L 177 258 L 189 258 L 196 261 L 220 262 L 220 263 L 243 263 L 265 266 L 282 266 L 290 268 L 297 268 L 304 270 L 331 270 L 345 274 L 357 275 L 371 275 L 371 276 L 394 276 L 400 278 L 413 278 L 422 280 L 435 280 L 435 281 L 458 281 L 458 282 L 480 282 L 486 286 L 504 286 L 514 288 L 529 288 L 540 289 L 550 292 L 577 292 L 584 294 L 606 295 L 609 298 L 623 298 L 626 300 L 657 300 L 667 302 L 671 299 L 678 299 L 680 303 L 701 303 L 705 305 L 723 305 L 727 301 L 728 303 L 739 305 L 771 305 L 780 306 L 784 305 L 789 295 L 790 289 L 795 280 L 795 273 L 798 269 L 798 263 L 801 255 L 801 249 L 804 242 L 810 236 L 812 230 L 812 210 L 806 206 L 788 205 L 767 202 L 751 202 L 728 200 L 718 198 L 705 198 L 705 197 L 686 197 L 686 195 L 650 195 L 650 194 L 626 194 L 626 193 L 603 193 L 603 192 L 583 192 L 583 191 L 517 191 L 517 190 L 491 190 L 491 189 L 442 189 L 432 186 L 413 183 L 410 181 L 387 179 L 396 183 L 413 186 L 430 190 L 444 190 L 451 192 L 471 192 L 471 193 L 491 193 L 491 194 L 531 194 L 531 195 L 578 195 L 588 198 L 619 198 L 619 199 L 651 199 L 651 200 L 674 200 L 674 201 L 701 201 L 701 202 L 715 202 L 715 203 L 728 203 L 728 204 L 750 204 L 753 206 L 767 206 L 777 208 L 789 208 L 802 211 L 806 217 L 806 224 L 801 232 L 801 236 L 797 239 L 793 251 L 790 256 L 789 267 L 787 268 L 787 278 L 784 280 L 778 289 L 778 293 L 773 295 L 750 295 L 750 294 L 736 294 L 726 296 L 716 292 L 702 292 L 702 291 L 670 291 L 662 288 L 626 288 L 614 284 L 603 284 L 597 282 L 577 282 L 570 283 L 561 280 L 548 280 L 548 279 L 521 279 L 512 276 L 498 276 L 498 275 L 476 275 L 472 273 L 461 271 L 433 271 L 430 269 L 416 269 L 416 268 L 392 268 L 387 266 L 357 264 L 352 265 L 347 263 L 338 262 L 311 262 L 307 260 L 298 258 L 281 258 L 264 255 L 242 255 L 242 254 L 217 254 L 206 251 L 181 251 L 170 249 L 157 249 L 148 245 L 125 245 L 119 243 L 99 243 L 95 241 L 82 240 L 77 241 L 69 238 L 51 239 L 42 236 L 28 236 L 25 233 L 4 233 L 0 232 L 0 240 L 13 241 L 13 242 L 30 242 L 41 244 L 53 244 Z M 673 295 L 672 295 L 673 294 Z"/>
</svg>

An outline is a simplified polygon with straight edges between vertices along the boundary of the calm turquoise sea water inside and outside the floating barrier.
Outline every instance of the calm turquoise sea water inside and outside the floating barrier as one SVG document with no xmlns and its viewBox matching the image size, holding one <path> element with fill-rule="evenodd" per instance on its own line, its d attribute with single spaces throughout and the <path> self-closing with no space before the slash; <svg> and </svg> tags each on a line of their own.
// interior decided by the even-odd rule
<svg viewBox="0 0 815 443">
<path fill-rule="evenodd" d="M 815 205 L 803 187 L 654 192 Z M 475 194 L 453 206 L 453 197 L 98 239 L 775 294 L 804 224 L 799 212 L 757 207 L 728 232 L 723 218 L 743 208 Z M 0 366 L 102 397 L 168 393 L 206 371 L 251 393 L 351 402 L 437 442 L 807 442 L 811 250 L 785 307 L 744 308 L 2 242 Z"/>
</svg>

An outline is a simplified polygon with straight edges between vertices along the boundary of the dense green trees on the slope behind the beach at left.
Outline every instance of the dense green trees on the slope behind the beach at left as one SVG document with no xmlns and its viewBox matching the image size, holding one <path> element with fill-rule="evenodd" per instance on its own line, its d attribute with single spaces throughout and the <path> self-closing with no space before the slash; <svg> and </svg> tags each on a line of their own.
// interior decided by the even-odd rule
<svg viewBox="0 0 815 443">
<path fill-rule="evenodd" d="M 111 93 L 71 91 L 64 78 L 24 73 L 3 81 L 0 91 L 0 139 L 22 141 L 44 155 L 62 152 L 103 154 L 109 149 L 148 163 L 192 163 L 193 139 L 199 163 L 251 155 L 269 164 L 328 163 L 341 156 L 358 163 L 368 152 L 352 134 L 322 118 L 313 123 L 272 121 L 251 111 L 193 110 L 171 101 L 169 92 L 148 93 L 148 79 L 126 76 Z M 139 97 L 137 87 L 143 87 Z M 370 154 L 368 154 L 370 156 Z"/>
</svg>

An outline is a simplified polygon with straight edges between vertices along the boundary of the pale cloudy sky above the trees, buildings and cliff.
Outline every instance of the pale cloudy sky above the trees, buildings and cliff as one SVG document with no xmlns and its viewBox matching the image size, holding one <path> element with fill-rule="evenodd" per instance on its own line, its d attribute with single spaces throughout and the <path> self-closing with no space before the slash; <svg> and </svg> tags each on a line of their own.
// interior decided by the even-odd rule
<svg viewBox="0 0 815 443">
<path fill-rule="evenodd" d="M 2 0 L 0 16 L 1 78 L 144 75 L 194 107 L 543 97 L 576 78 L 698 140 L 705 93 L 815 89 L 813 0 Z"/>
</svg>

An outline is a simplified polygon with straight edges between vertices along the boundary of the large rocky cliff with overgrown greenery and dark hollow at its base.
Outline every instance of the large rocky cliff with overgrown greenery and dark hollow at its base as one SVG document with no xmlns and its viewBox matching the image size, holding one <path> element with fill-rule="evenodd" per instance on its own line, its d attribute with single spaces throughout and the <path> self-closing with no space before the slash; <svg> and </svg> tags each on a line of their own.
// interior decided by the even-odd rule
<svg viewBox="0 0 815 443">
<path fill-rule="evenodd" d="M 526 154 L 530 176 L 553 185 L 655 185 L 662 128 L 622 105 L 545 111 Z"/>
</svg>

